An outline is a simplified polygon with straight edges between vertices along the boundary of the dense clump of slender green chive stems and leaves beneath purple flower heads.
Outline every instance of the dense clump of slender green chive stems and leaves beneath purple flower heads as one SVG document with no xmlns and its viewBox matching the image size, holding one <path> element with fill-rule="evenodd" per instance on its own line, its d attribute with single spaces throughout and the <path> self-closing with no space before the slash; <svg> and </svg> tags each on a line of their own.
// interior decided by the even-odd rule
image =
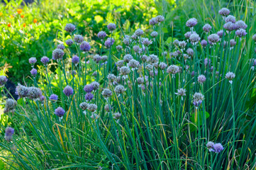
<svg viewBox="0 0 256 170">
<path fill-rule="evenodd" d="M 15 128 L 12 142 L 1 136 L 1 149 L 10 153 L 2 158 L 13 169 L 255 169 L 252 12 L 246 12 L 247 35 L 243 38 L 238 38 L 235 30 L 226 33 L 225 22 L 216 13 L 216 25 L 201 38 L 207 40 L 221 29 L 226 35 L 206 47 L 185 38 L 184 49 L 174 40 L 165 42 L 165 21 L 147 30 L 159 30 L 157 38 L 144 33 L 135 39 L 118 23 L 117 30 L 130 42 L 125 45 L 121 40 L 121 52 L 113 52 L 119 45 L 117 40 L 110 48 L 100 46 L 95 54 L 82 52 L 79 44 L 66 45 L 64 59 L 53 60 L 56 72 L 50 72 L 52 64 L 48 64 L 41 67 L 41 77 L 35 78 L 45 100 L 18 100 L 14 116 L 20 118 L 21 128 L 11 125 Z M 201 28 L 196 26 L 193 31 Z M 110 31 L 108 36 L 112 36 Z M 152 40 L 148 47 L 143 39 L 146 37 Z M 234 47 L 230 47 L 231 39 L 236 42 Z M 96 53 L 107 54 L 108 63 L 97 63 Z M 73 55 L 79 56 L 79 64 L 70 62 Z M 126 60 L 125 55 L 132 55 L 139 63 L 125 62 L 130 72 L 123 72 L 124 67 L 117 63 Z M 205 59 L 211 64 L 204 64 Z M 179 69 L 169 72 L 172 65 Z M 77 75 L 71 74 L 73 70 Z M 94 71 L 96 76 L 90 77 L 88 73 Z M 232 84 L 226 79 L 228 72 L 235 74 Z M 201 74 L 206 77 L 203 83 L 198 81 Z M 101 85 L 91 92 L 94 98 L 86 101 L 83 89 L 92 81 Z M 63 93 L 67 85 L 74 89 L 71 96 Z M 118 85 L 125 89 L 121 94 Z M 107 96 L 104 89 L 112 93 Z M 185 89 L 186 96 L 179 96 L 178 89 Z M 204 95 L 198 103 L 194 103 L 196 92 Z M 59 99 L 51 101 L 51 94 L 58 94 Z M 83 111 L 79 106 L 83 102 L 96 104 L 96 111 Z M 63 118 L 54 114 L 58 106 L 65 110 Z M 223 150 L 217 153 L 207 148 L 209 141 L 221 143 Z"/>
</svg>

